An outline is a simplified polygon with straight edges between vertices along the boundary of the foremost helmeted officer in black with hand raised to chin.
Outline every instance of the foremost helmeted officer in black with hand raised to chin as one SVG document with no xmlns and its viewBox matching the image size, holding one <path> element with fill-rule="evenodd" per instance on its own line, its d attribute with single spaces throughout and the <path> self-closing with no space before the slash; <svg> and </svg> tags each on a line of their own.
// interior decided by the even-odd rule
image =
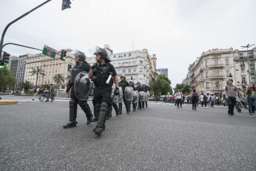
<svg viewBox="0 0 256 171">
<path fill-rule="evenodd" d="M 115 94 L 119 94 L 118 77 L 115 68 L 104 48 L 97 48 L 95 51 L 97 63 L 93 64 L 89 71 L 89 79 L 95 84 L 94 98 L 92 103 L 95 106 L 95 120 L 97 126 L 93 131 L 96 135 L 101 135 L 105 130 L 106 115 L 108 107 L 111 105 L 111 91 L 113 80 L 115 82 Z M 109 79 L 110 78 L 110 79 Z"/>
</svg>

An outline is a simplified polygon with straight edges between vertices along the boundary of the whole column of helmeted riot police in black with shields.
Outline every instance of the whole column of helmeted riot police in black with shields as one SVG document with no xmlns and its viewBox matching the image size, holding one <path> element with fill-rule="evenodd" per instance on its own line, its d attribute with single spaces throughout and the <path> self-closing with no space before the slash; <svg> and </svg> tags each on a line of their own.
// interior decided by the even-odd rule
<svg viewBox="0 0 256 171">
<path fill-rule="evenodd" d="M 77 104 L 79 104 L 86 114 L 86 124 L 97 122 L 93 131 L 96 135 L 101 135 L 106 127 L 106 119 L 112 117 L 112 106 L 115 109 L 116 115 L 122 114 L 122 102 L 120 103 L 119 100 L 118 105 L 117 103 L 113 103 L 114 96 L 117 97 L 127 93 L 127 91 L 125 91 L 126 87 L 132 88 L 133 91 L 137 92 L 147 92 L 145 85 L 141 86 L 140 83 L 137 83 L 137 87 L 135 88 L 132 80 L 128 83 L 124 74 L 121 74 L 121 81 L 118 83 L 117 73 L 114 66 L 109 63 L 111 62 L 111 59 L 108 57 L 104 48 L 97 47 L 95 55 L 96 63 L 90 66 L 89 63 L 86 62 L 86 55 L 83 52 L 75 51 L 74 53 L 76 65 L 74 65 L 74 68 L 71 70 L 71 79 L 68 81 L 66 90 L 67 93 L 71 90 L 71 100 L 69 101 L 69 123 L 63 126 L 64 129 L 77 126 Z M 90 80 L 92 80 L 95 86 L 93 91 L 94 97 L 92 100 L 94 117 L 87 103 L 89 93 L 92 89 Z M 115 88 L 112 88 L 113 84 L 115 84 Z M 120 90 L 119 86 L 121 87 Z M 122 96 L 122 98 L 127 109 L 127 114 L 130 112 L 131 102 L 133 112 L 135 112 L 137 107 L 137 103 L 135 103 L 136 101 L 127 100 L 125 96 Z M 147 100 L 138 100 L 138 109 L 144 109 L 144 104 L 146 104 L 147 108 Z"/>
</svg>

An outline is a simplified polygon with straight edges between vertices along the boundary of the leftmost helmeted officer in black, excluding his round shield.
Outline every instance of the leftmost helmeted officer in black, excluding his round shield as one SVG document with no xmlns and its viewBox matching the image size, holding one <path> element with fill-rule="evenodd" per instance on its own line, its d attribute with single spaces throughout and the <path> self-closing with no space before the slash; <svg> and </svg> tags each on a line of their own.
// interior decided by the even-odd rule
<svg viewBox="0 0 256 171">
<path fill-rule="evenodd" d="M 77 126 L 77 103 L 80 105 L 83 112 L 86 113 L 87 122 L 89 124 L 92 122 L 92 111 L 87 103 L 87 100 L 80 100 L 77 98 L 74 93 L 74 79 L 82 71 L 86 71 L 87 73 L 90 71 L 90 65 L 86 62 L 86 55 L 81 51 L 75 51 L 74 54 L 76 65 L 71 70 L 71 80 L 68 81 L 68 86 L 66 92 L 68 93 L 71 89 L 71 100 L 69 101 L 69 123 L 63 126 L 64 129 L 71 128 Z"/>
</svg>

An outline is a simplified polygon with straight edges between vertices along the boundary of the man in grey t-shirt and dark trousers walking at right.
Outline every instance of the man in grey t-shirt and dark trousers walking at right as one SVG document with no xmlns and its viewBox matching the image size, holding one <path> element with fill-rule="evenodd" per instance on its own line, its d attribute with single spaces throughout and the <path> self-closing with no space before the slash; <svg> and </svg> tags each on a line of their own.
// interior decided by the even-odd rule
<svg viewBox="0 0 256 171">
<path fill-rule="evenodd" d="M 226 100 L 228 100 L 228 115 L 234 116 L 234 105 L 236 103 L 237 87 L 233 85 L 233 80 L 228 80 L 228 85 L 225 86 Z"/>
</svg>

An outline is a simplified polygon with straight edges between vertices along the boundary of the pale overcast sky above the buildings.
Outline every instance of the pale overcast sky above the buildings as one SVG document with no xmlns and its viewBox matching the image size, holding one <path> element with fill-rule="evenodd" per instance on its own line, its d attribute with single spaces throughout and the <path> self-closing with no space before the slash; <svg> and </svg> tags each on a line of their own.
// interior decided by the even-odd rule
<svg viewBox="0 0 256 171">
<path fill-rule="evenodd" d="M 42 2 L 1 0 L 0 32 Z M 174 88 L 203 51 L 243 50 L 241 45 L 256 42 L 255 0 L 74 0 L 69 9 L 61 6 L 62 0 L 52 0 L 10 25 L 4 43 L 71 48 L 88 57 L 89 49 L 105 44 L 114 53 L 147 48 L 156 54 L 156 68 L 168 68 Z M 16 56 L 42 53 L 14 45 L 4 51 Z"/>
</svg>

